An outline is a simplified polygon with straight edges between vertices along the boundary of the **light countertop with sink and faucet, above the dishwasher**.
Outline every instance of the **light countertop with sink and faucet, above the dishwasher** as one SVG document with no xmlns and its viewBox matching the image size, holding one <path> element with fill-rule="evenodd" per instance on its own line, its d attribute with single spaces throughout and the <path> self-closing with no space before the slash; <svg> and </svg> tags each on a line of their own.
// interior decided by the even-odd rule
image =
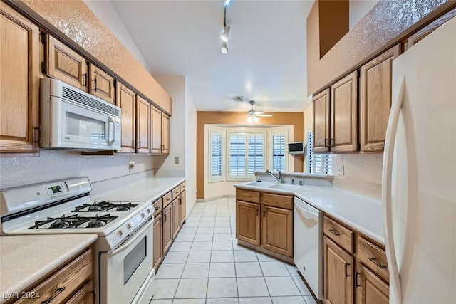
<svg viewBox="0 0 456 304">
<path fill-rule="evenodd" d="M 264 183 L 264 184 L 262 184 Z M 250 184 L 250 185 L 249 185 Z M 383 211 L 379 199 L 361 196 L 337 187 L 284 185 L 282 188 L 271 187 L 271 182 L 250 182 L 237 184 L 235 187 L 257 191 L 294 194 L 316 209 L 338 219 L 361 234 L 385 244 L 383 236 Z M 289 188 L 287 189 L 287 185 Z"/>
</svg>

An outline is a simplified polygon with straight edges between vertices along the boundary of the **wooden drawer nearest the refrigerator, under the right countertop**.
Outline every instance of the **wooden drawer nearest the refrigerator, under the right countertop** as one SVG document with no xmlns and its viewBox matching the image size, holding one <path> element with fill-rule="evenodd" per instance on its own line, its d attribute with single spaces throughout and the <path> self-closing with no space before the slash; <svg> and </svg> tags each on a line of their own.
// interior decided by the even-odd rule
<svg viewBox="0 0 456 304">
<path fill-rule="evenodd" d="M 371 268 L 383 280 L 389 281 L 388 263 L 386 262 L 386 253 L 383 249 L 358 236 L 356 256 L 358 256 L 359 261 L 368 266 L 368 268 Z"/>
</svg>

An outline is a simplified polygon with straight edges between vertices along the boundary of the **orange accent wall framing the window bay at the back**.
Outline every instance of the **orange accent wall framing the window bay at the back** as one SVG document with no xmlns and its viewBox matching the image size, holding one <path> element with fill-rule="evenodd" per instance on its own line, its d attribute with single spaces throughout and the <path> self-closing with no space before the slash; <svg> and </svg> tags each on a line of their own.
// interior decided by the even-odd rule
<svg viewBox="0 0 456 304">
<path fill-rule="evenodd" d="M 273 117 L 259 118 L 254 126 L 293 125 L 295 142 L 304 141 L 303 112 L 271 112 Z M 204 199 L 204 125 L 247 125 L 245 112 L 197 112 L 197 199 Z M 294 158 L 294 171 L 302 172 L 302 159 Z"/>
</svg>

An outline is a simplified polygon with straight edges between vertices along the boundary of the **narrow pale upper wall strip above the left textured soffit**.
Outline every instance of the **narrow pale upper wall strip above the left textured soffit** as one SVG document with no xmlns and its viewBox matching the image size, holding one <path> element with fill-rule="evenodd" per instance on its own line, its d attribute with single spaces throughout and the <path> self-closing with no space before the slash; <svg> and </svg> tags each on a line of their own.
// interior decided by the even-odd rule
<svg viewBox="0 0 456 304">
<path fill-rule="evenodd" d="M 111 1 L 99 0 L 83 0 L 88 8 L 109 28 L 111 33 L 130 51 L 139 63 L 150 73 L 150 68 L 147 66 L 144 58 L 138 50 L 138 47 L 133 42 L 133 39 L 128 33 L 127 28 L 123 25 L 117 11 L 115 11 Z"/>
</svg>

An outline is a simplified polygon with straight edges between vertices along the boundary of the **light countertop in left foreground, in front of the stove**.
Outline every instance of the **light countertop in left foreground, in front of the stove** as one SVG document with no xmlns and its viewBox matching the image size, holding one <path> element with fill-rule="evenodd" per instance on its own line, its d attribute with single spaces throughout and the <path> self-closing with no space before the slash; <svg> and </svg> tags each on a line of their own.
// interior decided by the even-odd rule
<svg viewBox="0 0 456 304">
<path fill-rule="evenodd" d="M 48 276 L 97 239 L 96 234 L 0 236 L 0 303 Z"/>
</svg>

